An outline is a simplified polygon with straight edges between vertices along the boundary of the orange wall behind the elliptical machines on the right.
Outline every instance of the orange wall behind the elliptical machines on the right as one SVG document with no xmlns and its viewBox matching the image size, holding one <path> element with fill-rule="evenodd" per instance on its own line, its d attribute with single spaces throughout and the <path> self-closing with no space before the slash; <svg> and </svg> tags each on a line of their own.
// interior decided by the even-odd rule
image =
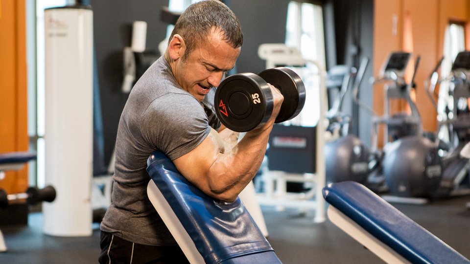
<svg viewBox="0 0 470 264">
<path fill-rule="evenodd" d="M 416 104 L 424 131 L 435 132 L 436 111 L 427 98 L 424 81 L 443 54 L 444 32 L 449 21 L 469 21 L 470 0 L 375 0 L 374 2 L 374 76 L 378 75 L 387 55 L 405 50 L 405 18 L 411 19 L 413 53 L 421 56 L 416 73 Z M 397 17 L 397 35 L 392 34 L 392 17 Z M 374 110 L 383 113 L 383 86 L 374 88 Z M 392 113 L 405 111 L 406 105 L 394 102 Z M 379 145 L 383 145 L 379 137 Z"/>
</svg>

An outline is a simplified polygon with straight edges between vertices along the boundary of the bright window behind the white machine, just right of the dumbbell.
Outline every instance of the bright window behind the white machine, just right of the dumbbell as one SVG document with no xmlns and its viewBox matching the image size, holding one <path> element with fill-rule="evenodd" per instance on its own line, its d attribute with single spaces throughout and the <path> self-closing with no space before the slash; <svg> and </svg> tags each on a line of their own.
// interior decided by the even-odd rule
<svg viewBox="0 0 470 264">
<path fill-rule="evenodd" d="M 322 70 L 325 69 L 325 41 L 323 31 L 323 14 L 320 5 L 289 2 L 287 8 L 285 44 L 297 47 L 307 61 L 316 62 Z M 314 64 L 303 68 L 293 68 L 304 80 L 306 89 L 305 106 L 292 124 L 314 126 L 320 118 L 319 106 L 319 69 Z"/>
</svg>

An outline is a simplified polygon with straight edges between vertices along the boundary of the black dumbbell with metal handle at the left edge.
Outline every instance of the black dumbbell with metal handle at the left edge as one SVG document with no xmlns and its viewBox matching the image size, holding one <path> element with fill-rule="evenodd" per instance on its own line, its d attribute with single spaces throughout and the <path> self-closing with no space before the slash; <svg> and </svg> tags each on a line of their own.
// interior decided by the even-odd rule
<svg viewBox="0 0 470 264">
<path fill-rule="evenodd" d="M 5 190 L 0 189 L 0 208 L 8 206 L 10 201 L 26 199 L 28 204 L 36 204 L 41 201 L 51 202 L 55 199 L 56 192 L 52 186 L 46 186 L 43 189 L 37 187 L 29 187 L 25 193 L 9 194 Z"/>
</svg>

